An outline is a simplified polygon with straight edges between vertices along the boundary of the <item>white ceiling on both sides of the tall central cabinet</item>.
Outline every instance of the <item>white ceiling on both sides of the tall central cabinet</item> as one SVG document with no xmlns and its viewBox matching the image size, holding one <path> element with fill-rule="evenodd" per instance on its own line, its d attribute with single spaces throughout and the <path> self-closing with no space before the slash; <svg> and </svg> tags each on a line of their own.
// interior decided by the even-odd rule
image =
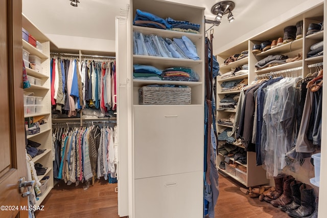
<svg viewBox="0 0 327 218">
<path fill-rule="evenodd" d="M 69 0 L 22 0 L 22 12 L 43 33 L 49 36 L 65 35 L 103 40 L 115 40 L 115 16 L 125 15 L 128 0 L 79 0 L 78 7 Z M 175 0 L 174 2 L 205 8 L 206 19 L 214 19 L 211 7 L 217 0 Z M 214 28 L 214 53 L 232 41 L 246 40 L 270 28 L 271 20 L 283 21 L 295 15 L 296 8 L 305 4 L 315 4 L 322 0 L 234 0 L 232 11 L 235 20 L 228 23 L 227 14 L 219 27 Z M 274 23 L 275 24 L 275 23 Z M 211 25 L 206 25 L 206 29 Z M 251 35 L 250 35 L 251 34 Z M 59 42 L 56 42 L 60 43 Z"/>
</svg>

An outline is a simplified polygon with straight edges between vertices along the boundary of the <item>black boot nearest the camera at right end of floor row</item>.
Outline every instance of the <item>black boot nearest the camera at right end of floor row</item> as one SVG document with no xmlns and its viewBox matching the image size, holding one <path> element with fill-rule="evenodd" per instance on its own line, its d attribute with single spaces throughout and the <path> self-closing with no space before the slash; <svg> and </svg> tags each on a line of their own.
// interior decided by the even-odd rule
<svg viewBox="0 0 327 218">
<path fill-rule="evenodd" d="M 313 188 L 308 184 L 300 186 L 301 206 L 296 210 L 287 210 L 286 213 L 291 217 L 306 217 L 315 210 L 315 194 Z"/>
</svg>

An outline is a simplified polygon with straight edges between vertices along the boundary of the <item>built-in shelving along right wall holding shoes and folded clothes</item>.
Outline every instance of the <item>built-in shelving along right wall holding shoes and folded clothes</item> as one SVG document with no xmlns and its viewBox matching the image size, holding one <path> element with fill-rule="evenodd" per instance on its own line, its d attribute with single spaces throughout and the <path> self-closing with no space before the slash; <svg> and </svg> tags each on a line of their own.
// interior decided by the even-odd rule
<svg viewBox="0 0 327 218">
<path fill-rule="evenodd" d="M 320 23 L 323 21 L 323 14 L 324 14 L 323 4 L 318 4 L 317 6 L 310 8 L 302 13 L 291 17 L 290 19 L 284 21 L 281 24 L 276 25 L 273 28 L 270 28 L 258 35 L 251 37 L 248 40 L 245 40 L 238 45 L 233 46 L 230 49 L 220 52 L 217 54 L 217 60 L 220 63 L 220 73 L 223 75 L 224 73 L 230 71 L 232 68 L 236 68 L 242 66 L 243 64 L 248 63 L 249 66 L 249 73 L 247 75 L 239 76 L 239 77 L 231 77 L 228 79 L 221 79 L 220 76 L 217 77 L 217 105 L 219 101 L 224 97 L 226 92 L 221 92 L 220 84 L 223 81 L 231 81 L 236 79 L 248 78 L 248 83 L 250 84 L 253 82 L 258 75 L 269 74 L 271 72 L 284 72 L 284 76 L 301 76 L 306 77 L 309 73 L 314 73 L 316 70 L 315 68 L 310 68 L 311 64 L 319 63 L 323 61 L 323 56 L 311 57 L 307 58 L 307 53 L 310 51 L 310 47 L 321 40 L 323 40 L 323 32 L 319 31 L 312 35 L 306 36 L 309 24 L 311 23 Z M 252 48 L 255 44 L 260 44 L 265 40 L 273 40 L 278 37 L 284 36 L 284 28 L 287 26 L 295 26 L 298 21 L 302 20 L 303 22 L 303 37 L 296 39 L 292 42 L 285 43 L 281 46 L 269 49 L 265 52 L 261 52 L 260 54 L 252 54 Z M 230 55 L 240 54 L 242 51 L 248 50 L 249 56 L 235 62 L 231 62 L 228 65 L 224 65 L 224 60 L 228 58 Z M 267 57 L 268 55 L 277 55 L 283 54 L 287 55 L 288 57 L 292 58 L 295 57 L 298 53 L 302 52 L 302 58 L 300 60 L 289 62 L 261 70 L 255 69 L 255 63 L 263 58 Z M 289 71 L 290 69 L 295 69 Z M 234 92 L 239 93 L 239 92 Z M 325 93 L 324 93 L 325 95 Z M 217 120 L 221 117 L 227 117 L 229 113 L 235 113 L 233 111 L 217 111 Z M 325 119 L 325 118 L 324 118 Z M 217 124 L 218 130 L 225 127 L 223 125 Z M 322 143 L 323 147 L 323 143 Z M 217 156 L 217 167 L 219 167 L 220 161 L 224 160 L 225 157 L 222 155 Z M 246 180 L 240 180 L 239 178 L 230 175 L 230 173 L 226 172 L 226 170 L 221 170 L 226 175 L 231 176 L 233 179 L 237 180 L 238 182 L 244 184 L 247 187 L 255 186 L 255 185 L 262 185 L 269 183 L 269 180 L 266 179 L 265 170 L 262 166 L 256 166 L 256 156 L 254 152 L 247 152 L 247 164 L 243 164 L 247 167 L 246 173 Z M 238 163 L 242 165 L 241 163 Z M 292 176 L 294 176 L 297 180 L 310 184 L 310 178 L 314 177 L 314 169 L 313 166 L 310 164 L 310 160 L 307 160 L 305 165 L 303 165 L 299 171 L 285 171 Z M 321 183 L 320 183 L 321 184 Z M 273 183 L 272 183 L 273 185 Z M 313 186 L 318 193 L 318 188 Z"/>
</svg>

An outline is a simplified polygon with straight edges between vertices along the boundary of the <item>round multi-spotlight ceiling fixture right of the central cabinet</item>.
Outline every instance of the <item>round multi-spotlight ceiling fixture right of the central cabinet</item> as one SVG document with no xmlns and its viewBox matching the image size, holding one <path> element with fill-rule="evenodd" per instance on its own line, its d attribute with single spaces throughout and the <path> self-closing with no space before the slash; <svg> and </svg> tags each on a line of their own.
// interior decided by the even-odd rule
<svg viewBox="0 0 327 218">
<path fill-rule="evenodd" d="M 215 20 L 205 20 L 207 24 L 213 24 L 218 26 L 221 23 L 221 19 L 224 14 L 228 13 L 228 21 L 231 23 L 234 20 L 234 16 L 231 11 L 235 8 L 235 3 L 232 1 L 222 1 L 216 3 L 212 8 L 211 12 L 216 15 Z"/>
</svg>

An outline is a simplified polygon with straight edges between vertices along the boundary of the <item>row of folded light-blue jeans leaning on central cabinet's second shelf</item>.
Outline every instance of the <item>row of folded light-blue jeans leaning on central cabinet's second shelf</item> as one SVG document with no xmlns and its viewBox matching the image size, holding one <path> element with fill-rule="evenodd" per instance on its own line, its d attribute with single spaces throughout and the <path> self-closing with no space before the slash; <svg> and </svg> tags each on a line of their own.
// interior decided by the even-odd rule
<svg viewBox="0 0 327 218">
<path fill-rule="evenodd" d="M 133 54 L 199 60 L 196 46 L 186 36 L 162 38 L 154 34 L 133 33 Z"/>
</svg>

